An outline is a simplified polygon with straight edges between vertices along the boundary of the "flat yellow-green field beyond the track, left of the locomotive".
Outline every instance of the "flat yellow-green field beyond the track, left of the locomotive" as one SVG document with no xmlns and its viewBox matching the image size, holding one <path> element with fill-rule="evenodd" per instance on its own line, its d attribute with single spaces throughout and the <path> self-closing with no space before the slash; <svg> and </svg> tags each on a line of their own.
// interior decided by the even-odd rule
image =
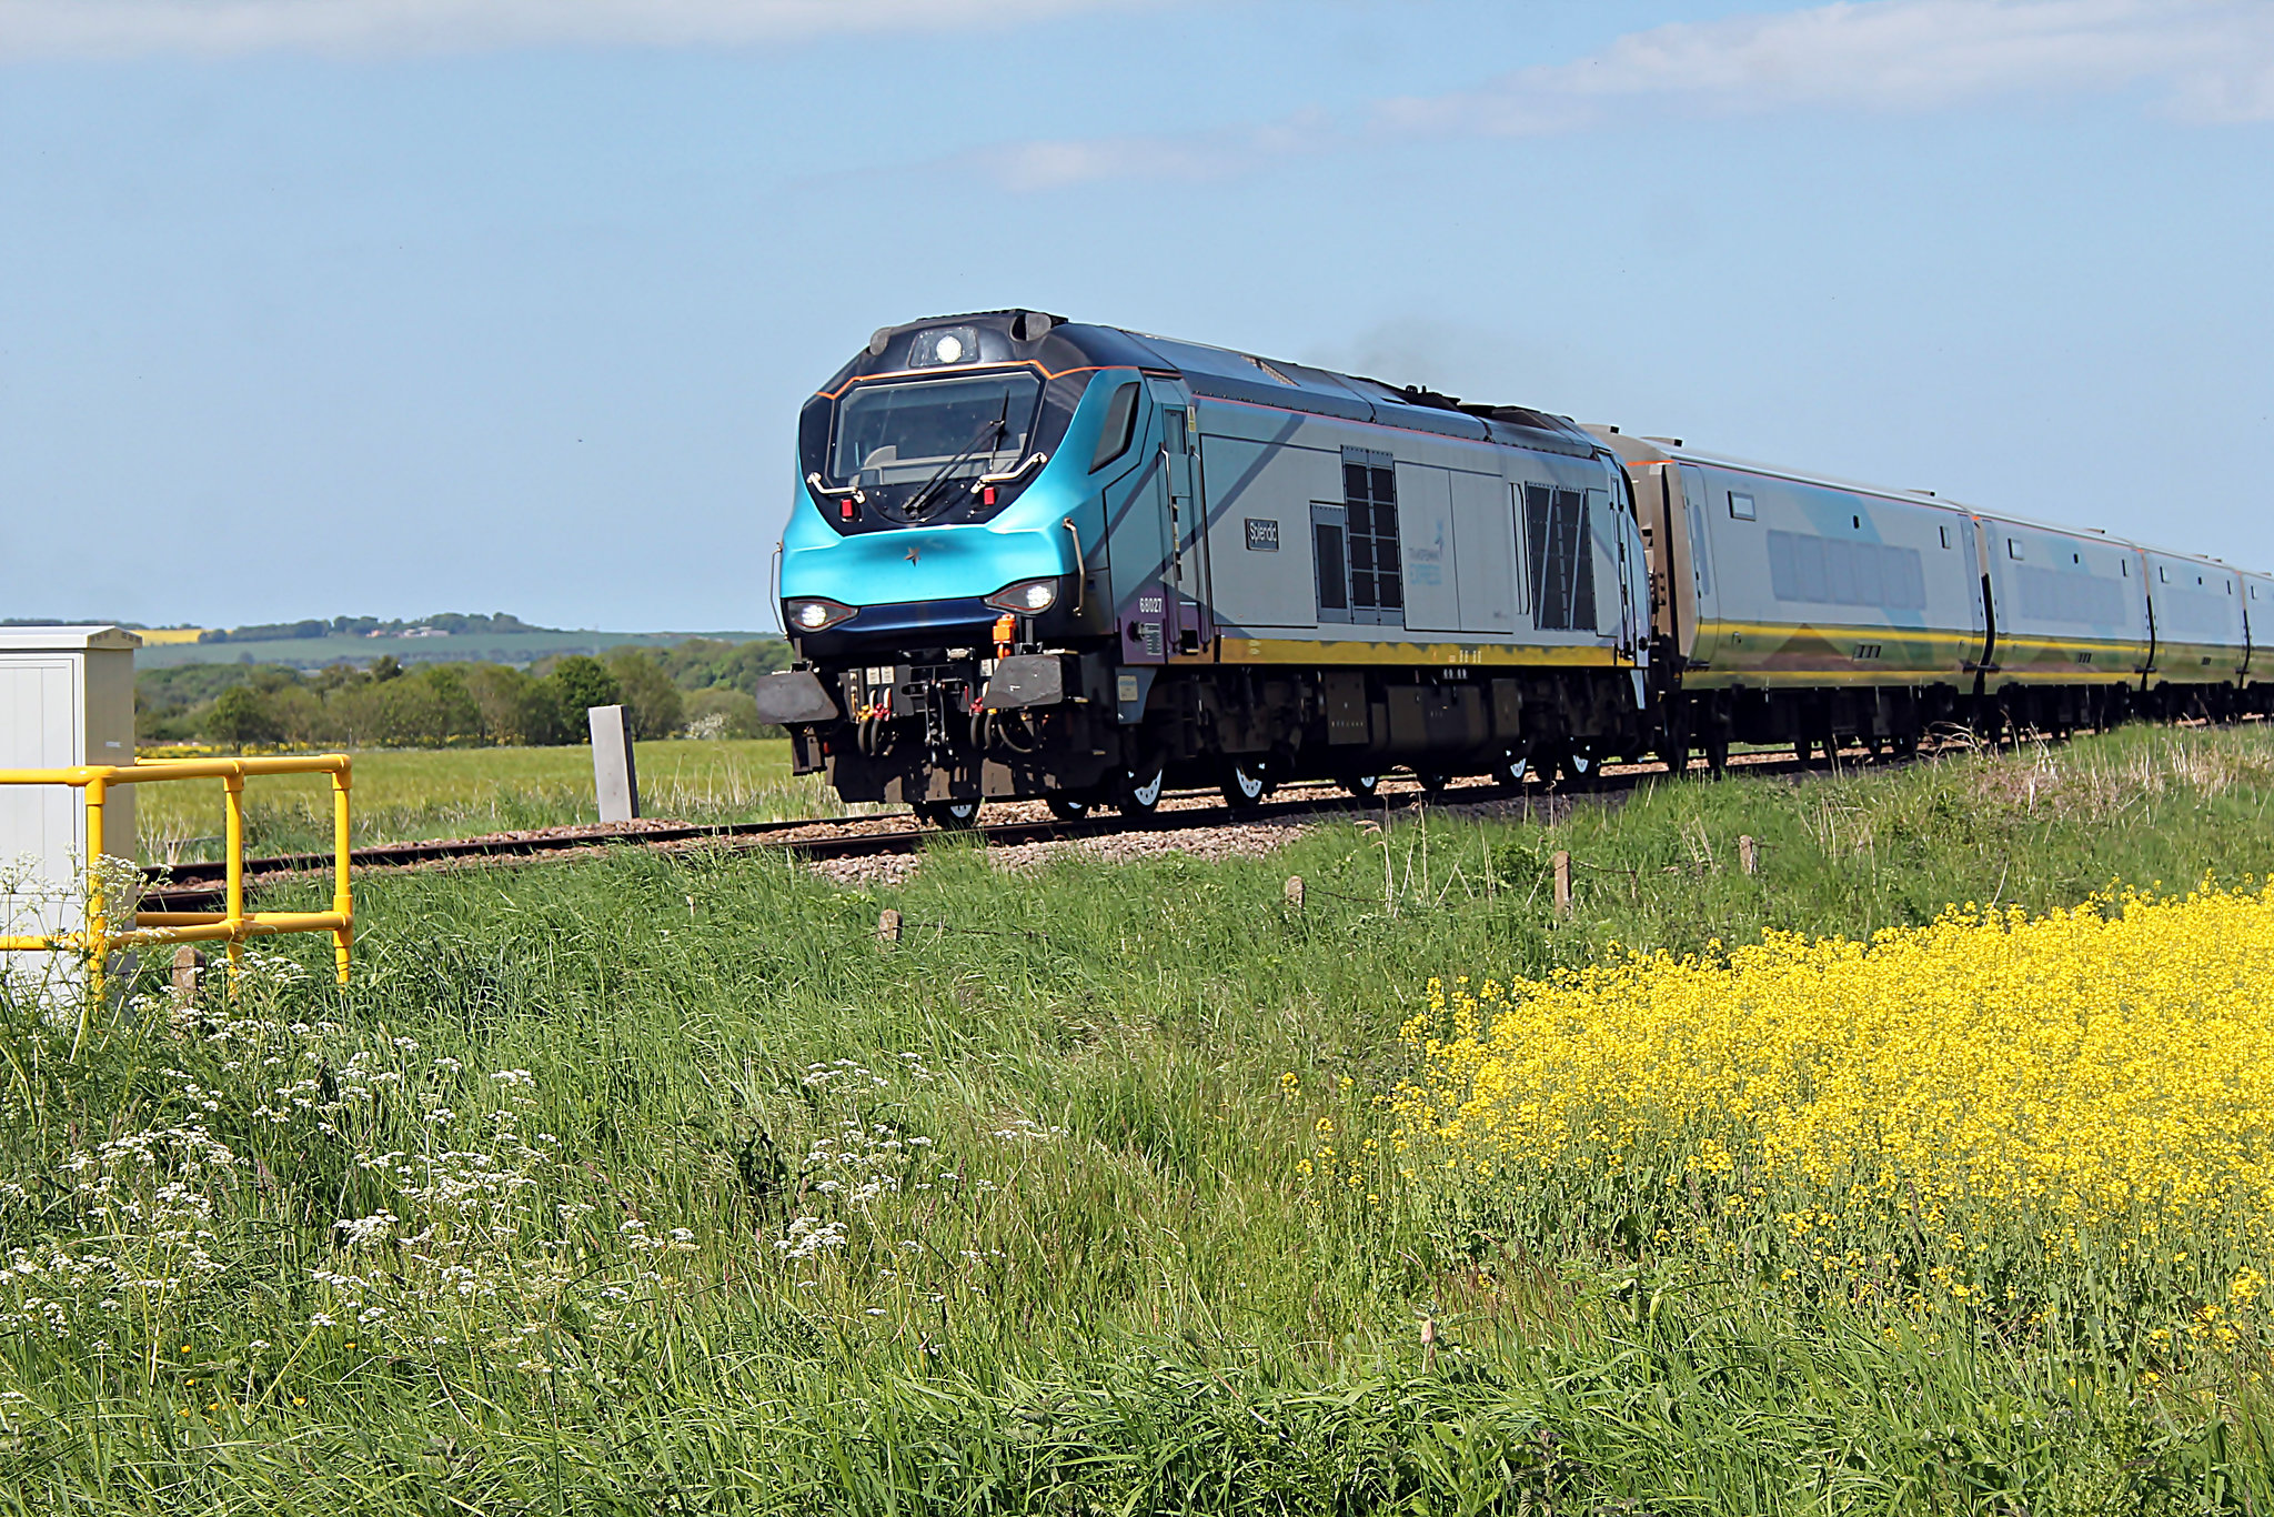
<svg viewBox="0 0 2274 1517">
<path fill-rule="evenodd" d="M 789 773 L 782 739 L 634 744 L 641 810 L 684 821 L 835 816 L 844 807 L 814 778 Z M 246 785 L 246 848 L 298 853 L 332 846 L 323 776 L 264 776 Z M 136 791 L 141 855 L 218 857 L 221 787 L 146 785 Z M 598 821 L 591 748 L 371 748 L 355 755 L 355 842 L 393 844 Z"/>
</svg>

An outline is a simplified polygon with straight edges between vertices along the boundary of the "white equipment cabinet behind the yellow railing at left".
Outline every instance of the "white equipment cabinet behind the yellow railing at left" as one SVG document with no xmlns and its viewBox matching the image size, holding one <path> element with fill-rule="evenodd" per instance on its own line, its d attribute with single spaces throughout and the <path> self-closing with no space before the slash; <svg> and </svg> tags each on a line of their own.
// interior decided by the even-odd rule
<svg viewBox="0 0 2274 1517">
<path fill-rule="evenodd" d="M 139 646 L 118 628 L 0 628 L 0 769 L 132 764 Z M 102 851 L 134 857 L 132 785 L 105 796 Z M 86 791 L 0 785 L 0 932 L 82 928 L 84 880 Z"/>
</svg>

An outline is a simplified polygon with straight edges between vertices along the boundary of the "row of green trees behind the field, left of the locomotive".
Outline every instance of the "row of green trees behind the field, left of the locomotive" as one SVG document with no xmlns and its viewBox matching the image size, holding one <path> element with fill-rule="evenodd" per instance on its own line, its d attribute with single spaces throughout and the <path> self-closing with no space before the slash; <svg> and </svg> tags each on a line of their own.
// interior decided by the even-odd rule
<svg viewBox="0 0 2274 1517">
<path fill-rule="evenodd" d="M 789 664 L 775 639 L 689 639 L 673 648 L 571 653 L 528 669 L 448 662 L 298 671 L 186 664 L 134 680 L 143 744 L 450 748 L 587 741 L 584 710 L 623 705 L 634 737 L 764 737 L 753 689 Z"/>
</svg>

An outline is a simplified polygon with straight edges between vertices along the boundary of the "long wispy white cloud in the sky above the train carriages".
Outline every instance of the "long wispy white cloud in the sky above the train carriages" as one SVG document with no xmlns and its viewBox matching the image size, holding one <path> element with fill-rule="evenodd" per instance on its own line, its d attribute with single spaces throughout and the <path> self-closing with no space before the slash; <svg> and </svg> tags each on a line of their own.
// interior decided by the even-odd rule
<svg viewBox="0 0 2274 1517">
<path fill-rule="evenodd" d="M 2274 121 L 2274 0 L 1840 0 L 1630 32 L 1478 89 L 1182 136 L 1030 141 L 973 159 L 1016 189 L 1230 177 L 1385 136 L 1542 136 L 1610 121 L 1928 111 L 2144 91 L 2197 123 Z"/>
</svg>

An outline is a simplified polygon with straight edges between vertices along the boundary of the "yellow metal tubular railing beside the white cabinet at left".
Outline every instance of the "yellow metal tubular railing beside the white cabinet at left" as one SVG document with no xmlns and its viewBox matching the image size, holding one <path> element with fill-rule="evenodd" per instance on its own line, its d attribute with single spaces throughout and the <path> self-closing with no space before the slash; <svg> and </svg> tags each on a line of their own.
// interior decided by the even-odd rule
<svg viewBox="0 0 2274 1517">
<path fill-rule="evenodd" d="M 327 773 L 332 776 L 332 910 L 330 912 L 248 912 L 246 910 L 246 778 L 259 773 Z M 102 801 L 114 785 L 155 785 L 159 780 L 221 780 L 225 821 L 223 910 L 218 912 L 134 912 L 134 928 L 114 932 L 102 917 Z M 239 760 L 143 760 L 139 764 L 82 764 L 77 769 L 0 769 L 0 785 L 70 785 L 86 791 L 86 930 L 25 937 L 0 937 L 0 953 L 86 953 L 100 987 L 102 960 L 111 948 L 136 944 L 230 944 L 230 973 L 236 973 L 248 937 L 273 932 L 330 932 L 339 983 L 348 983 L 348 951 L 355 944 L 355 896 L 348 889 L 348 755 L 316 753 L 302 757 Z"/>
</svg>

